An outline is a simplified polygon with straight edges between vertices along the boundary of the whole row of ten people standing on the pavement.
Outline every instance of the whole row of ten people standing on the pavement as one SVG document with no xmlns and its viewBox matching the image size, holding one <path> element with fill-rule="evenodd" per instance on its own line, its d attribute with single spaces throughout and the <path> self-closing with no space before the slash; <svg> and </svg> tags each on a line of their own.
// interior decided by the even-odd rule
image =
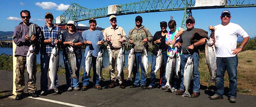
<svg viewBox="0 0 256 107">
<path fill-rule="evenodd" d="M 22 98 L 22 93 L 24 90 L 24 70 L 26 64 L 26 54 L 28 52 L 28 47 L 31 43 L 36 44 L 40 48 L 41 53 L 41 95 L 47 95 L 48 79 L 47 71 L 49 69 L 49 60 L 51 52 L 55 44 L 62 45 L 63 47 L 63 59 L 65 62 L 66 70 L 66 81 L 68 86 L 68 91 L 72 90 L 87 90 L 89 84 L 89 77 L 87 76 L 86 70 L 83 74 L 83 86 L 80 89 L 78 86 L 79 80 L 79 70 L 82 61 L 82 49 L 81 46 L 86 45 L 84 58 L 87 56 L 87 52 L 92 52 L 92 68 L 93 68 L 93 86 L 96 89 L 102 89 L 100 86 L 99 75 L 96 74 L 96 60 L 98 57 L 98 52 L 100 51 L 100 45 L 107 42 L 107 48 L 110 50 L 111 58 L 109 65 L 109 75 L 111 83 L 109 88 L 114 88 L 116 80 L 119 81 L 119 86 L 121 89 L 125 89 L 124 85 L 124 72 L 121 72 L 121 78 L 116 79 L 115 66 L 117 62 L 117 56 L 119 50 L 122 48 L 122 43 L 128 41 L 132 44 L 135 54 L 135 66 L 133 67 L 132 73 L 134 76 L 134 83 L 131 88 L 141 87 L 142 89 L 152 89 L 156 87 L 155 80 L 156 74 L 156 57 L 158 50 L 162 50 L 163 54 L 163 64 L 161 75 L 161 89 L 165 90 L 165 84 L 167 82 L 165 78 L 166 64 L 168 56 L 171 53 L 175 53 L 175 56 L 180 55 L 180 74 L 179 79 L 174 76 L 171 77 L 172 88 L 170 90 L 177 91 L 176 95 L 183 95 L 185 87 L 183 84 L 184 68 L 187 63 L 188 57 L 193 58 L 194 68 L 193 68 L 193 93 L 191 97 L 198 97 L 200 95 L 200 75 L 198 71 L 199 66 L 199 51 L 204 52 L 204 43 L 208 39 L 208 32 L 202 29 L 194 28 L 196 23 L 194 17 L 188 17 L 186 20 L 187 30 L 184 30 L 176 26 L 175 20 L 170 20 L 168 23 L 163 21 L 160 22 L 160 31 L 157 31 L 154 36 L 150 33 L 148 28 L 142 25 L 142 17 L 135 17 L 135 26 L 128 33 L 128 38 L 124 29 L 117 26 L 117 18 L 114 15 L 109 17 L 110 27 L 106 28 L 102 33 L 100 30 L 96 30 L 97 22 L 95 19 L 89 20 L 89 30 L 84 30 L 82 35 L 76 31 L 76 26 L 74 21 L 68 21 L 66 29 L 62 34 L 60 29 L 53 25 L 53 15 L 50 12 L 45 14 L 46 24 L 42 27 L 36 27 L 35 35 L 28 37 L 28 28 L 30 19 L 30 12 L 28 10 L 22 10 L 20 12 L 21 19 L 23 20 L 18 26 L 15 27 L 13 41 L 17 44 L 15 50 L 15 57 L 17 57 L 16 66 L 16 100 Z M 209 26 L 211 30 L 211 38 L 216 46 L 217 54 L 217 75 L 215 86 L 215 95 L 211 96 L 210 99 L 223 99 L 224 93 L 224 73 L 227 70 L 229 76 L 229 90 L 228 93 L 229 101 L 231 103 L 236 102 L 236 80 L 237 80 L 237 54 L 243 49 L 245 44 L 249 40 L 248 34 L 237 24 L 230 23 L 231 14 L 230 11 L 224 10 L 220 16 L 221 24 L 217 26 Z M 170 31 L 167 31 L 166 28 Z M 236 48 L 237 37 L 243 37 L 243 42 L 239 48 Z M 227 41 L 229 40 L 229 41 Z M 31 42 L 29 42 L 31 41 Z M 152 42 L 154 49 L 152 50 L 152 66 L 150 72 L 150 84 L 146 86 L 146 73 L 142 64 L 142 54 L 143 50 L 148 50 L 148 42 Z M 72 46 L 76 55 L 76 72 L 77 78 L 71 78 L 72 71 L 70 65 L 68 64 L 67 47 Z M 37 53 L 39 52 L 36 51 Z M 139 72 L 139 66 L 140 71 Z M 84 67 L 86 68 L 86 67 Z M 33 71 L 34 81 L 36 82 L 36 70 Z M 58 78 L 56 76 L 55 85 L 58 87 Z M 28 93 L 32 97 L 38 97 L 35 93 L 35 83 L 28 82 Z"/>
</svg>

